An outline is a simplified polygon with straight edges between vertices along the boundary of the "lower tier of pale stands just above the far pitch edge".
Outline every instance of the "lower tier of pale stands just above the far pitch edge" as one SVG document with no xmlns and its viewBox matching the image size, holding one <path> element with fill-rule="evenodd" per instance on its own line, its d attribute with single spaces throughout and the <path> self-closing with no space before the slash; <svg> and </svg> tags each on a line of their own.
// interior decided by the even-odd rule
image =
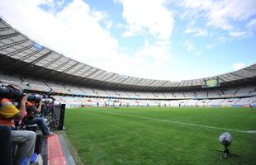
<svg viewBox="0 0 256 165">
<path fill-rule="evenodd" d="M 256 97 L 226 99 L 181 99 L 181 100 L 128 100 L 115 98 L 55 96 L 55 103 L 66 107 L 81 106 L 256 106 Z"/>
</svg>

